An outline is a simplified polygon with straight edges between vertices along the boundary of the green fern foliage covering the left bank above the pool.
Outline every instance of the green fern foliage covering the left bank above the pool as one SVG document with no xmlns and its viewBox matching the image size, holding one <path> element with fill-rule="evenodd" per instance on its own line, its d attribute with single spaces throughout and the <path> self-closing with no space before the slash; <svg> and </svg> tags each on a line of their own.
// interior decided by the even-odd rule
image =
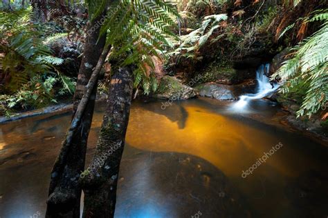
<svg viewBox="0 0 328 218">
<path fill-rule="evenodd" d="M 32 17 L 30 7 L 0 12 L 1 110 L 37 108 L 55 101 L 55 95 L 73 93 L 73 81 L 55 69 L 63 60 L 52 56 Z"/>
</svg>

